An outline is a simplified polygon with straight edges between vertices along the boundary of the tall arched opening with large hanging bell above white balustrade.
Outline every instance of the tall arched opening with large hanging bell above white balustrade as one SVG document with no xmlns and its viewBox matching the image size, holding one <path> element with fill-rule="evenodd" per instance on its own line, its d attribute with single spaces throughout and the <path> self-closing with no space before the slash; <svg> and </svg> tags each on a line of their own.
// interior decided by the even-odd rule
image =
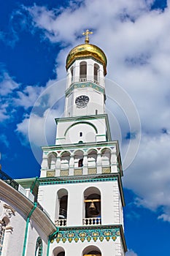
<svg viewBox="0 0 170 256">
<path fill-rule="evenodd" d="M 89 187 L 84 192 L 83 225 L 101 225 L 101 192 L 96 187 Z"/>
</svg>

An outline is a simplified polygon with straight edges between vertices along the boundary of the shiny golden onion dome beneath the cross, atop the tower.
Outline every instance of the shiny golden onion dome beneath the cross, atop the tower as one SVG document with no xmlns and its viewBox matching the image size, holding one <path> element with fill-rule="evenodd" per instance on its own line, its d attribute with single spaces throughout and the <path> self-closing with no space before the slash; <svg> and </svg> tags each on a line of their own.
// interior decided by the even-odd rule
<svg viewBox="0 0 170 256">
<path fill-rule="evenodd" d="M 96 45 L 90 45 L 88 43 L 77 45 L 73 48 L 66 58 L 66 69 L 72 65 L 75 59 L 93 58 L 100 62 L 104 66 L 104 75 L 107 75 L 107 57 L 103 50 Z"/>
</svg>

